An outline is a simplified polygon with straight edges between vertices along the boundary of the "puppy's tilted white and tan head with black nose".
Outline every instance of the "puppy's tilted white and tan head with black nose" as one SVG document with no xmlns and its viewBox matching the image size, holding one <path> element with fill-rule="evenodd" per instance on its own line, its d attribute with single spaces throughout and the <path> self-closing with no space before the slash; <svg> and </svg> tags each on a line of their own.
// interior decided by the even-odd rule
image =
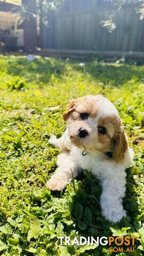
<svg viewBox="0 0 144 256">
<path fill-rule="evenodd" d="M 63 120 L 68 119 L 71 142 L 79 148 L 110 152 L 119 162 L 127 149 L 127 139 L 114 105 L 101 95 L 72 100 Z"/>
</svg>

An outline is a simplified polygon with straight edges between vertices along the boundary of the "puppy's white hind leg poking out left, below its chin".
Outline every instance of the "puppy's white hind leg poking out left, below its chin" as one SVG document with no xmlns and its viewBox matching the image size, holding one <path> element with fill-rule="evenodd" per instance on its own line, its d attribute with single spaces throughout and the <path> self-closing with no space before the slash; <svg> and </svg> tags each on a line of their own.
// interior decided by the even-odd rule
<svg viewBox="0 0 144 256">
<path fill-rule="evenodd" d="M 49 142 L 54 146 L 58 147 L 62 151 L 71 150 L 72 145 L 68 136 L 68 129 L 57 139 L 55 135 L 51 135 Z"/>
</svg>

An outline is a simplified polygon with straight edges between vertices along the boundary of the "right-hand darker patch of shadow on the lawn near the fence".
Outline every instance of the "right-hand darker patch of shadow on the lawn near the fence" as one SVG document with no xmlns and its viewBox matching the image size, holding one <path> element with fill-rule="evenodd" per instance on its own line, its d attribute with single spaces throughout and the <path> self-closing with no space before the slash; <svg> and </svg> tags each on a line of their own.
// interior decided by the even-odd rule
<svg viewBox="0 0 144 256">
<path fill-rule="evenodd" d="M 143 81 L 143 67 L 127 65 L 121 63 L 104 63 L 104 62 L 84 62 L 81 67 L 74 64 L 74 69 L 81 70 L 86 76 L 90 75 L 92 79 L 103 84 L 123 85 L 131 81 Z"/>
</svg>

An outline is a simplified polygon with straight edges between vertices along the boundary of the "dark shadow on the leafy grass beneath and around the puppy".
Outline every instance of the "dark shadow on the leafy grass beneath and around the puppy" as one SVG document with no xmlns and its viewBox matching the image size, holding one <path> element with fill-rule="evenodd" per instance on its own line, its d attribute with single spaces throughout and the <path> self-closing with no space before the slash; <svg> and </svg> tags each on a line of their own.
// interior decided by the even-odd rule
<svg viewBox="0 0 144 256">
<path fill-rule="evenodd" d="M 120 222 L 113 223 L 101 217 L 101 207 L 99 198 L 101 195 L 101 187 L 98 179 L 94 178 L 91 173 L 86 172 L 80 177 L 81 183 L 78 189 L 75 189 L 75 196 L 71 203 L 71 218 L 76 223 L 76 230 L 83 235 L 90 236 L 111 236 L 110 227 L 130 227 L 132 232 L 137 231 L 139 221 L 137 221 L 138 211 L 138 195 L 137 191 L 133 191 L 132 185 L 137 186 L 131 173 L 131 168 L 127 169 L 126 196 L 123 199 L 124 209 L 127 211 L 127 217 L 122 218 Z M 88 233 L 87 233 L 88 232 Z"/>
</svg>

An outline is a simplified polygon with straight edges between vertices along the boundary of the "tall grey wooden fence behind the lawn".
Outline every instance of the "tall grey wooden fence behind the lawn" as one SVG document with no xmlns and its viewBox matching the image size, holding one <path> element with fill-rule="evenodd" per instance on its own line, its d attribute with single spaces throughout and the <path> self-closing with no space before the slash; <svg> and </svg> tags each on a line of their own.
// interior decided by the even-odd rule
<svg viewBox="0 0 144 256">
<path fill-rule="evenodd" d="M 97 8 L 81 12 L 51 14 L 49 28 L 43 26 L 46 49 L 95 51 L 144 51 L 144 22 L 137 6 L 121 10 Z M 101 21 L 113 14 L 116 29 L 109 33 Z"/>
</svg>

